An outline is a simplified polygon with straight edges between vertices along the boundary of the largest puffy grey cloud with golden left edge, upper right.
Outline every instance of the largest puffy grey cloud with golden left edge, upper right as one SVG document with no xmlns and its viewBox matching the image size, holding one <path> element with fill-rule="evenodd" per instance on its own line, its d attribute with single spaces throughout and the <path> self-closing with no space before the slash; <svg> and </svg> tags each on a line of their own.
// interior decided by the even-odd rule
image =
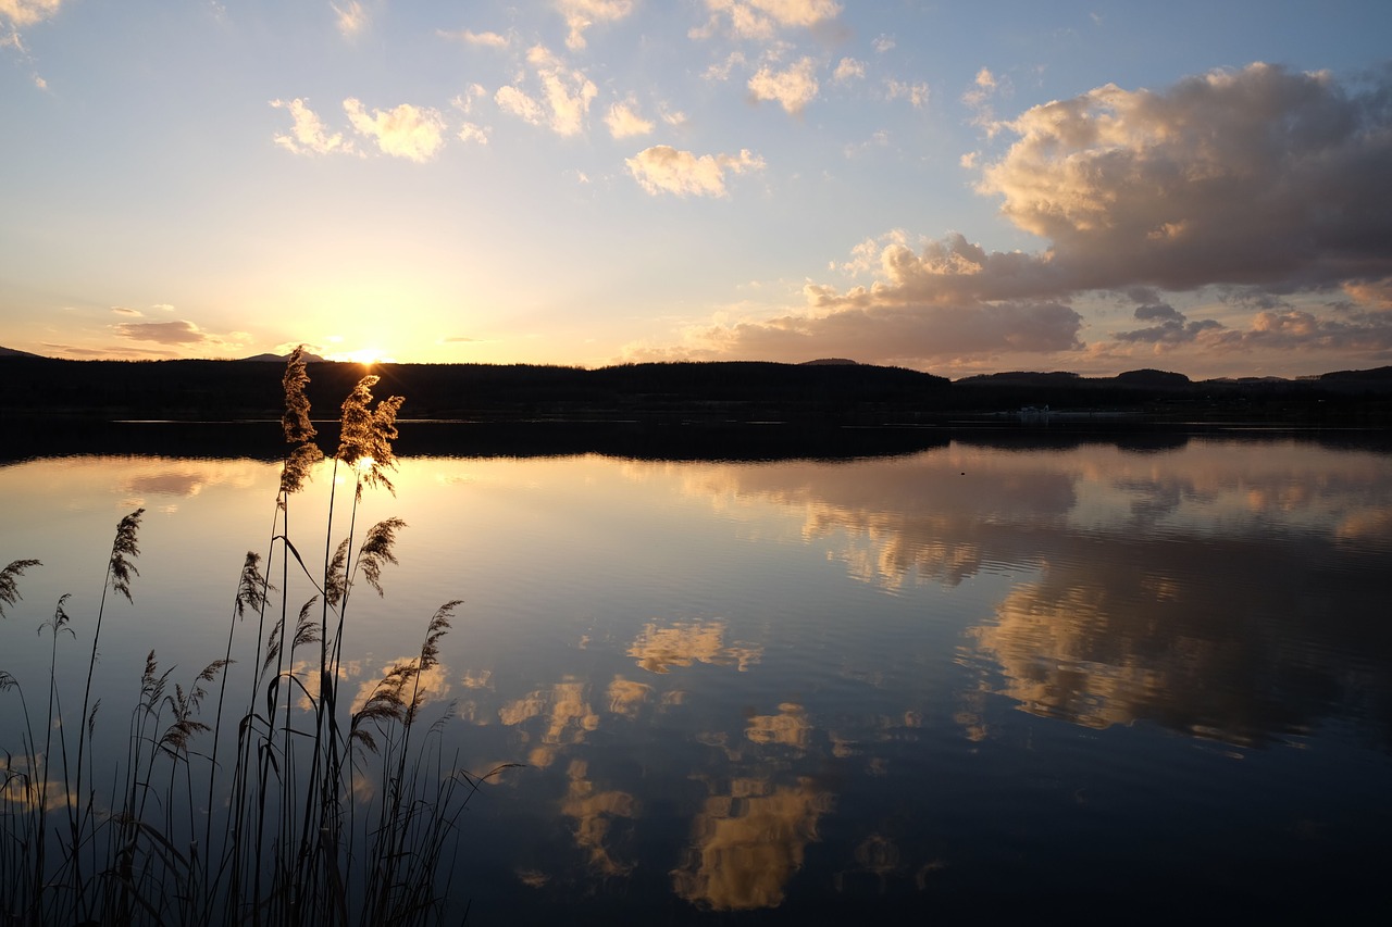
<svg viewBox="0 0 1392 927">
<path fill-rule="evenodd" d="M 1361 93 L 1253 64 L 1162 90 L 1107 85 L 1037 106 L 980 191 L 1052 244 L 1076 290 L 1392 274 L 1392 72 Z"/>
</svg>

